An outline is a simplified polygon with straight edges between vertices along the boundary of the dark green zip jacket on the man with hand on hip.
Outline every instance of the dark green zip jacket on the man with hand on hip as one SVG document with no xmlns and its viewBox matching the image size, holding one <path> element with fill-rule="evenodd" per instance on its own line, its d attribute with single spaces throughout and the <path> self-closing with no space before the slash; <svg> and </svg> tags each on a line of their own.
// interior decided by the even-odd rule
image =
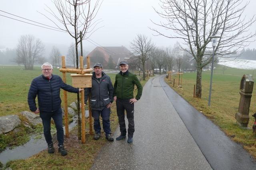
<svg viewBox="0 0 256 170">
<path fill-rule="evenodd" d="M 116 74 L 114 83 L 114 96 L 120 99 L 134 98 L 134 84 L 136 84 L 138 93 L 136 100 L 139 100 L 142 95 L 142 85 L 135 74 L 130 73 L 128 70 L 124 73 L 121 71 Z"/>
</svg>

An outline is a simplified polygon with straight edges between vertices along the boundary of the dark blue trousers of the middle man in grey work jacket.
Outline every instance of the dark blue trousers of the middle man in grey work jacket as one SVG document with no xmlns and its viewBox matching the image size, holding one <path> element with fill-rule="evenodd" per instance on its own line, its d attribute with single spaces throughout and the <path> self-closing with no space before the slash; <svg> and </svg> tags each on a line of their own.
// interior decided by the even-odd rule
<svg viewBox="0 0 256 170">
<path fill-rule="evenodd" d="M 100 128 L 100 116 L 102 117 L 102 126 L 105 132 L 105 135 L 109 135 L 111 133 L 110 129 L 110 108 L 105 107 L 104 109 L 100 110 L 92 110 L 92 116 L 94 118 L 94 131 L 95 133 L 99 133 L 101 131 Z"/>
</svg>

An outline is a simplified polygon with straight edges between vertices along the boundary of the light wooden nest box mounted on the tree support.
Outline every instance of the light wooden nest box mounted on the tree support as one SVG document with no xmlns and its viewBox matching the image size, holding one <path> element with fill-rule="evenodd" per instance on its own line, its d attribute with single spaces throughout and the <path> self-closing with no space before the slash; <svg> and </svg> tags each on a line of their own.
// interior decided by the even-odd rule
<svg viewBox="0 0 256 170">
<path fill-rule="evenodd" d="M 92 74 L 71 74 L 72 86 L 75 88 L 92 87 Z"/>
</svg>

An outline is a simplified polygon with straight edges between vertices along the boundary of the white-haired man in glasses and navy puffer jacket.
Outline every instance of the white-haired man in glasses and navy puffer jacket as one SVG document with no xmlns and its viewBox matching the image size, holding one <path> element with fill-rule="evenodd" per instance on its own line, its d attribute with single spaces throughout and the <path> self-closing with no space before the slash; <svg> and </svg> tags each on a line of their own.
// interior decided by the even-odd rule
<svg viewBox="0 0 256 170">
<path fill-rule="evenodd" d="M 78 93 L 83 89 L 77 89 L 67 85 L 60 76 L 52 74 L 52 64 L 44 63 L 42 75 L 34 78 L 28 91 L 28 105 L 34 113 L 40 113 L 44 127 L 44 137 L 48 144 L 48 153 L 54 153 L 51 135 L 51 118 L 54 120 L 57 130 L 58 151 L 61 155 L 66 155 L 64 149 L 64 131 L 62 127 L 62 109 L 60 99 L 60 88 L 72 93 Z M 36 107 L 36 96 L 38 107 Z"/>
</svg>

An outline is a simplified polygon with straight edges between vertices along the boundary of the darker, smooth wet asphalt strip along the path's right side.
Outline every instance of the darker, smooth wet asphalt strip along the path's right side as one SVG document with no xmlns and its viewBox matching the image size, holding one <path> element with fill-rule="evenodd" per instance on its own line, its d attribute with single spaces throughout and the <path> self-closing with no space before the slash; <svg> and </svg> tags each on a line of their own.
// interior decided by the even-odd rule
<svg viewBox="0 0 256 170">
<path fill-rule="evenodd" d="M 213 169 L 256 169 L 256 160 L 241 145 L 231 141 L 219 127 L 174 92 L 164 82 L 163 76 L 160 78 L 160 84 Z"/>
</svg>

